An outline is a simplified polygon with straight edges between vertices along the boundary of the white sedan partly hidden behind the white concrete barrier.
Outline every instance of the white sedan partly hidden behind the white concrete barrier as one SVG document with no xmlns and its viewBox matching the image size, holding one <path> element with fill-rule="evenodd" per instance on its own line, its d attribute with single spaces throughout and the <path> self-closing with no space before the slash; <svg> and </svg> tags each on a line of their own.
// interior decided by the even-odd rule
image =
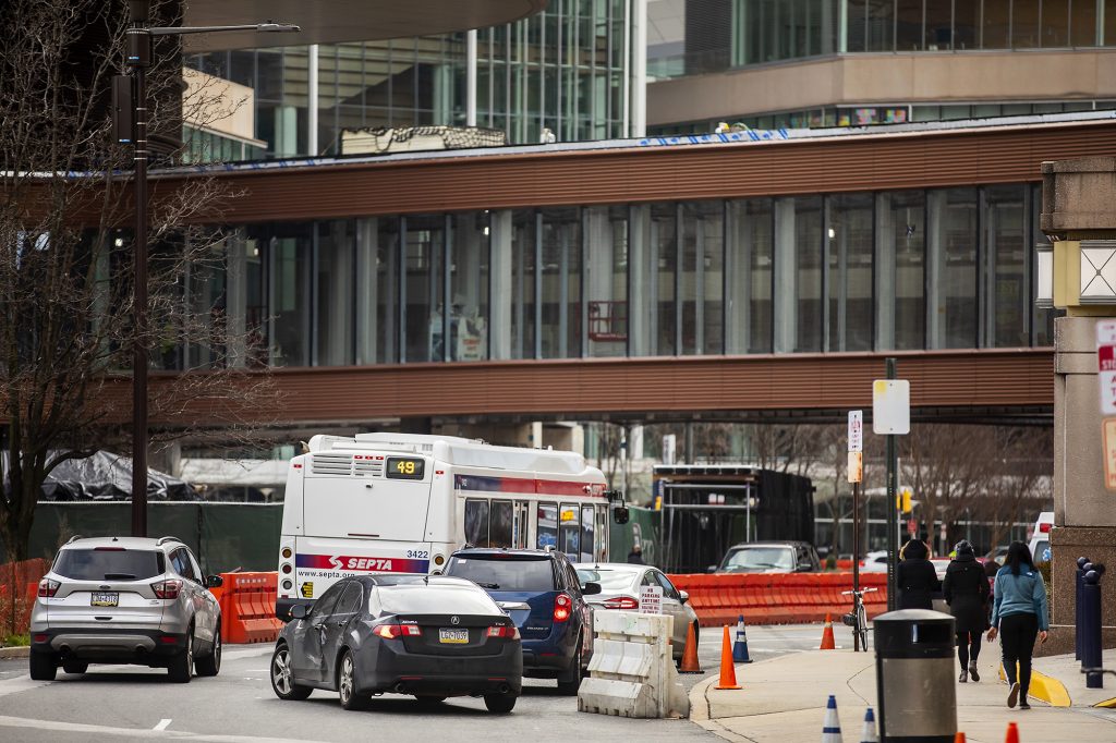
<svg viewBox="0 0 1116 743">
<path fill-rule="evenodd" d="M 599 583 L 600 592 L 589 598 L 594 610 L 622 609 L 635 611 L 639 608 L 639 590 L 644 586 L 658 586 L 663 589 L 663 614 L 674 617 L 674 628 L 671 638 L 671 650 L 674 660 L 681 663 L 686 649 L 686 630 L 694 628 L 694 643 L 698 641 L 698 612 L 690 606 L 690 595 L 680 591 L 663 575 L 658 568 L 645 565 L 628 565 L 626 562 L 603 562 L 589 567 L 579 565 L 577 577 L 581 585 Z"/>
</svg>

